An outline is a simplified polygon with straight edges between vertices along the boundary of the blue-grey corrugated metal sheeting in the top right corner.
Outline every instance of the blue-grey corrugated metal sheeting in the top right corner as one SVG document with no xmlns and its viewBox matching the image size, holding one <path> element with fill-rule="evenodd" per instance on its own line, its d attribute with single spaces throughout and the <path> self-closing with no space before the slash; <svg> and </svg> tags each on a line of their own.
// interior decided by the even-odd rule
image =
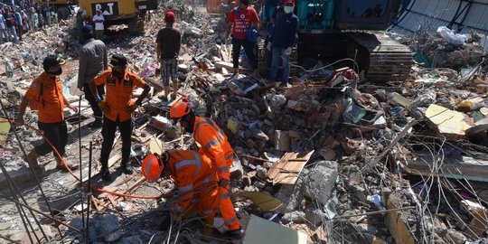
<svg viewBox="0 0 488 244">
<path fill-rule="evenodd" d="M 413 34 L 420 28 L 435 32 L 439 26 L 471 30 L 484 35 L 483 46 L 488 47 L 488 0 L 412 0 L 389 31 Z"/>
</svg>

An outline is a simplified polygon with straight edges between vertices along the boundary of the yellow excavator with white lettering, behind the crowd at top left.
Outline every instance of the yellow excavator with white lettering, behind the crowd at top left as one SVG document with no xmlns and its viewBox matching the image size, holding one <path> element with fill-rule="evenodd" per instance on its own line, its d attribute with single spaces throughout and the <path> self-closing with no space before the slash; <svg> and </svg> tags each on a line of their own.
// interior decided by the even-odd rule
<svg viewBox="0 0 488 244">
<path fill-rule="evenodd" d="M 80 0 L 80 8 L 91 19 L 97 10 L 105 17 L 105 25 L 127 24 L 131 34 L 144 33 L 145 12 L 157 9 L 156 0 Z"/>
</svg>

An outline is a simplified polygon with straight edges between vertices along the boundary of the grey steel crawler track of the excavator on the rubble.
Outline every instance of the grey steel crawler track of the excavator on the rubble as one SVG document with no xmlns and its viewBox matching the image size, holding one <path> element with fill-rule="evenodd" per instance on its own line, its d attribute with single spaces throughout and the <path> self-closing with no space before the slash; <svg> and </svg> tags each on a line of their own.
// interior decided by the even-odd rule
<svg viewBox="0 0 488 244">
<path fill-rule="evenodd" d="M 414 63 L 412 52 L 408 46 L 392 40 L 383 32 L 361 33 L 351 36 L 368 52 L 368 80 L 373 81 L 405 81 L 408 80 Z"/>
</svg>

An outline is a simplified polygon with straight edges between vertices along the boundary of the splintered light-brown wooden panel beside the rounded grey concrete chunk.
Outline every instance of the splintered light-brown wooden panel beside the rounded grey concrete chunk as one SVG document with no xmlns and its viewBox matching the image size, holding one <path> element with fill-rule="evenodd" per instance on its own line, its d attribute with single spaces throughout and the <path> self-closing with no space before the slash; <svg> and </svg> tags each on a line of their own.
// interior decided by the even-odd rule
<svg viewBox="0 0 488 244">
<path fill-rule="evenodd" d="M 305 164 L 310 159 L 314 151 L 299 154 L 286 153 L 277 163 L 273 164 L 271 169 L 267 172 L 267 178 L 273 184 L 294 184 L 298 179 L 298 175 L 302 172 Z"/>
</svg>

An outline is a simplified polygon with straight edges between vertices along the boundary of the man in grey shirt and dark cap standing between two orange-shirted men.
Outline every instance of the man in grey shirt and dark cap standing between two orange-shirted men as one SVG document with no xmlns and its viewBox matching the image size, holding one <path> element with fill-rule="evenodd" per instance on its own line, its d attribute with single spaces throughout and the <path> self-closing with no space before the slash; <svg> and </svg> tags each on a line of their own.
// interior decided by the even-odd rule
<svg viewBox="0 0 488 244">
<path fill-rule="evenodd" d="M 85 92 L 85 99 L 89 101 L 89 106 L 93 110 L 95 121 L 90 127 L 102 126 L 102 110 L 99 103 L 93 97 L 89 89 L 89 83 L 95 79 L 103 70 L 108 70 L 107 47 L 105 43 L 93 38 L 91 25 L 81 28 L 81 35 L 85 44 L 78 51 L 80 57 L 80 69 L 78 70 L 78 88 Z M 97 86 L 99 96 L 105 94 L 105 85 Z"/>
</svg>

